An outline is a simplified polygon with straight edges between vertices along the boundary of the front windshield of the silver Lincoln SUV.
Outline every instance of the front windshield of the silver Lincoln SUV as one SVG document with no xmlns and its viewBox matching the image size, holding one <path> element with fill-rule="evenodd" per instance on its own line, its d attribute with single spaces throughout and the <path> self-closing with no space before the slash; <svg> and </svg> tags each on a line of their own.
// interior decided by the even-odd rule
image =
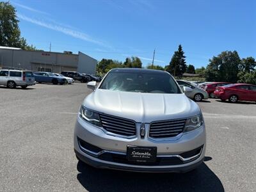
<svg viewBox="0 0 256 192">
<path fill-rule="evenodd" d="M 172 76 L 159 72 L 109 72 L 100 89 L 122 92 L 180 93 Z"/>
</svg>

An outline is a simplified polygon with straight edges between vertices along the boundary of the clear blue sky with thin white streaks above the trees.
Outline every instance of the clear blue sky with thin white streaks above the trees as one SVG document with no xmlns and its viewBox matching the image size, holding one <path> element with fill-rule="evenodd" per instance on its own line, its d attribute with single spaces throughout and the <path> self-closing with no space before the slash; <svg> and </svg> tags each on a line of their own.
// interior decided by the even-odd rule
<svg viewBox="0 0 256 192">
<path fill-rule="evenodd" d="M 97 60 L 138 56 L 168 65 L 182 45 L 186 61 L 206 66 L 221 51 L 256 58 L 256 1 L 11 1 L 21 35 L 38 49 L 84 52 Z"/>
</svg>

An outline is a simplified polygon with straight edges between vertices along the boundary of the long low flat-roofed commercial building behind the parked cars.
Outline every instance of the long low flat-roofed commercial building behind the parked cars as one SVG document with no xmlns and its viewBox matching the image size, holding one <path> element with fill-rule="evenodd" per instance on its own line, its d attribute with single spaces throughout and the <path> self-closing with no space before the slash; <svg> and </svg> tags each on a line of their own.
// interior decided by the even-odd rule
<svg viewBox="0 0 256 192">
<path fill-rule="evenodd" d="M 56 72 L 70 70 L 83 74 L 96 73 L 97 60 L 78 52 L 23 51 L 19 48 L 0 47 L 0 68 Z"/>
</svg>

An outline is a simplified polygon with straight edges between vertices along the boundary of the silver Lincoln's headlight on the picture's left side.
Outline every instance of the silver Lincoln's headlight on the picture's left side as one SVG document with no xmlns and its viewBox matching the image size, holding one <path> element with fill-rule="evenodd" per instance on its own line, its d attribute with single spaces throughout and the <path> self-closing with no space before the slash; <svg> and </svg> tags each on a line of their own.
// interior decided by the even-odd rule
<svg viewBox="0 0 256 192">
<path fill-rule="evenodd" d="M 84 108 L 84 106 L 81 106 L 79 111 L 79 116 L 83 118 L 86 122 L 89 124 L 96 125 L 98 127 L 102 127 L 100 123 L 100 117 L 99 113 L 95 113 L 94 111 L 91 111 L 90 109 Z"/>
</svg>

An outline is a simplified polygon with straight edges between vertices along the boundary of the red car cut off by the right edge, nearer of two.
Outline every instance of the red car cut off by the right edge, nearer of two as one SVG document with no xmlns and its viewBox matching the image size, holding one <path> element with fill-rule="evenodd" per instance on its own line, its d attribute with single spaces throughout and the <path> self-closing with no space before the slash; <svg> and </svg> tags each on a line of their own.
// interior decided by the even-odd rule
<svg viewBox="0 0 256 192">
<path fill-rule="evenodd" d="M 253 84 L 227 84 L 216 88 L 214 96 L 221 100 L 237 102 L 237 100 L 256 101 L 256 85 Z"/>
</svg>

